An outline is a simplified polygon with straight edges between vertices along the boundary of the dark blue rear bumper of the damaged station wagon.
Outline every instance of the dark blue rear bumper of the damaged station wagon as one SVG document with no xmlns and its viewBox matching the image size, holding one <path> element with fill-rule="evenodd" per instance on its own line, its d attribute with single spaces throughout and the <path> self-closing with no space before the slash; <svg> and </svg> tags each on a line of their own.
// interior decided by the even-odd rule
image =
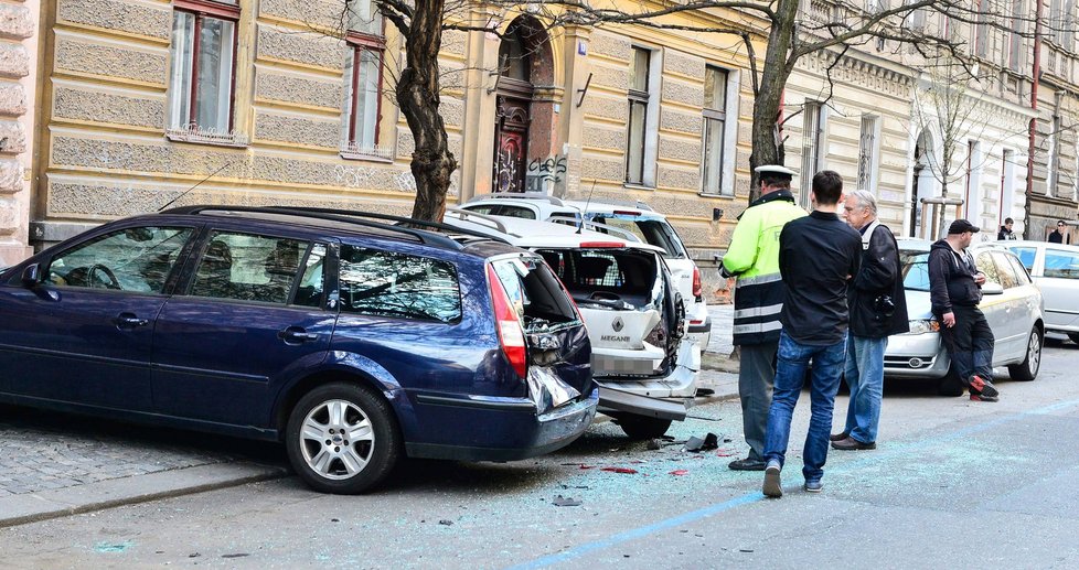
<svg viewBox="0 0 1079 570">
<path fill-rule="evenodd" d="M 520 401 L 510 401 L 520 400 Z M 479 404 L 482 401 L 483 404 Z M 409 458 L 455 461 L 516 461 L 535 458 L 564 448 L 588 429 L 596 417 L 599 390 L 587 397 L 536 415 L 528 398 L 500 398 L 500 401 L 456 400 L 418 396 L 416 417 L 440 430 L 453 441 L 406 442 Z"/>
</svg>

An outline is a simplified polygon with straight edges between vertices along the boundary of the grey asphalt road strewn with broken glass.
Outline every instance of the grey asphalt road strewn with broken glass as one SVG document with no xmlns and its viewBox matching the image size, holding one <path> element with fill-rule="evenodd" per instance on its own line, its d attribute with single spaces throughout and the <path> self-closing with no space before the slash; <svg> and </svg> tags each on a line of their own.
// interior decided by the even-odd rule
<svg viewBox="0 0 1079 570">
<path fill-rule="evenodd" d="M 409 462 L 366 496 L 289 477 L 0 529 L 2 566 L 1077 568 L 1077 364 L 1079 346 L 1050 344 L 1039 378 L 1001 381 L 997 404 L 889 385 L 879 448 L 833 451 L 819 495 L 801 491 L 808 396 L 781 499 L 726 469 L 744 453 L 726 401 L 672 429 L 715 432 L 718 450 L 650 450 L 598 424 L 536 461 Z"/>
</svg>

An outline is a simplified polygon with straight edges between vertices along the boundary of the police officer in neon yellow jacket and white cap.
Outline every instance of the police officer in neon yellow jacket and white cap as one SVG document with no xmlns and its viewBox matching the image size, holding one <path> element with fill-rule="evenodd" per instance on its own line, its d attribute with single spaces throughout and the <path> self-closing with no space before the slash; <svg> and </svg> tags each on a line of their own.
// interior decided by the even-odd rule
<svg viewBox="0 0 1079 570">
<path fill-rule="evenodd" d="M 735 277 L 734 344 L 739 347 L 738 396 L 749 454 L 730 462 L 736 471 L 763 471 L 765 429 L 776 376 L 779 310 L 786 287 L 779 272 L 779 234 L 791 219 L 805 216 L 794 203 L 794 172 L 779 165 L 757 166 L 760 197 L 738 216 L 720 273 Z"/>
</svg>

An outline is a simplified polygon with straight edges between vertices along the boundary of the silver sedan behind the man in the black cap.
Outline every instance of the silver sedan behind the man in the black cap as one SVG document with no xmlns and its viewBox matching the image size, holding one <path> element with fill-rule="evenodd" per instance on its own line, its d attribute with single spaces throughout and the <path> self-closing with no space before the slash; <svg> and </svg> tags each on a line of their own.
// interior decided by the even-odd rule
<svg viewBox="0 0 1079 570">
<path fill-rule="evenodd" d="M 940 338 L 940 323 L 929 303 L 930 241 L 900 239 L 904 286 L 910 332 L 888 338 L 885 376 L 901 378 L 954 377 L 951 359 Z M 1045 316 L 1041 292 L 1018 258 L 1003 247 L 977 244 L 970 248 L 979 270 L 986 276 L 979 308 L 985 313 L 996 344 L 993 367 L 1007 366 L 1014 380 L 1033 380 L 1041 363 Z"/>
</svg>

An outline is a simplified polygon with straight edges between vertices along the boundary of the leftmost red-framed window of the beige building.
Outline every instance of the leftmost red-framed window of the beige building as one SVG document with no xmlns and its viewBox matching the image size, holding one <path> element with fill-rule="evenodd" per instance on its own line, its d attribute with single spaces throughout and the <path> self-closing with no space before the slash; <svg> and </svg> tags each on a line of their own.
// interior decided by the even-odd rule
<svg viewBox="0 0 1079 570">
<path fill-rule="evenodd" d="M 232 132 L 238 0 L 174 0 L 173 6 L 168 135 L 242 143 Z"/>
</svg>

